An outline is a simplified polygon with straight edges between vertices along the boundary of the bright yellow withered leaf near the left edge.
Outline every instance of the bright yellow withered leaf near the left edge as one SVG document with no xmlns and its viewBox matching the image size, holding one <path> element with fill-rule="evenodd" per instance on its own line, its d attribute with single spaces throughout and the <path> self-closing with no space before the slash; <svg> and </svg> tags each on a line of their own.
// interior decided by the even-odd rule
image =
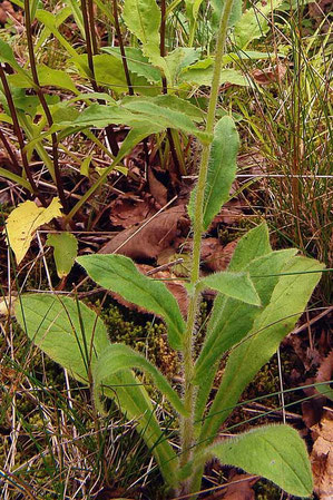
<svg viewBox="0 0 333 500">
<path fill-rule="evenodd" d="M 59 198 L 53 198 L 47 208 L 38 207 L 33 202 L 21 203 L 6 222 L 9 244 L 16 254 L 17 263 L 25 258 L 38 227 L 53 217 L 61 217 Z"/>
</svg>

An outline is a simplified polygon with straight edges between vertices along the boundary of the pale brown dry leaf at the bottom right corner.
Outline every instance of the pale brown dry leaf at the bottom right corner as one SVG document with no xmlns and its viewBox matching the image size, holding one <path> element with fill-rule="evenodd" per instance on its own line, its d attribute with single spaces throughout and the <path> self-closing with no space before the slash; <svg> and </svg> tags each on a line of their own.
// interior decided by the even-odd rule
<svg viewBox="0 0 333 500">
<path fill-rule="evenodd" d="M 320 423 L 312 427 L 314 445 L 311 453 L 314 491 L 320 500 L 333 498 L 333 411 L 326 410 Z"/>
</svg>

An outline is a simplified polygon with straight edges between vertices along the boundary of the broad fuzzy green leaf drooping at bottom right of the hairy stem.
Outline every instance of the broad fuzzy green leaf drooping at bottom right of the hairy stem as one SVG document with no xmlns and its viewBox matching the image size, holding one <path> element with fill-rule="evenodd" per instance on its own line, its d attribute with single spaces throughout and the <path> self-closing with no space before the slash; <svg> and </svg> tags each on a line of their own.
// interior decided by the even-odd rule
<svg viewBox="0 0 333 500">
<path fill-rule="evenodd" d="M 270 479 L 295 497 L 313 490 L 310 460 L 303 440 L 288 425 L 265 425 L 228 438 L 208 451 L 222 463 Z"/>
</svg>

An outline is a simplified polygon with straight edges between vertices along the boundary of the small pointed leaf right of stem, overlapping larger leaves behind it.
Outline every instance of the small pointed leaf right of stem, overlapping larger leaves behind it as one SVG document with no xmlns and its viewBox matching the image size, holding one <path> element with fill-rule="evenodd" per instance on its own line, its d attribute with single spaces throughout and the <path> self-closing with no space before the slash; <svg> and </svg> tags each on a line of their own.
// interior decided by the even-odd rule
<svg viewBox="0 0 333 500">
<path fill-rule="evenodd" d="M 205 286 L 246 304 L 261 305 L 261 300 L 248 273 L 231 273 L 223 271 L 200 280 Z"/>
</svg>

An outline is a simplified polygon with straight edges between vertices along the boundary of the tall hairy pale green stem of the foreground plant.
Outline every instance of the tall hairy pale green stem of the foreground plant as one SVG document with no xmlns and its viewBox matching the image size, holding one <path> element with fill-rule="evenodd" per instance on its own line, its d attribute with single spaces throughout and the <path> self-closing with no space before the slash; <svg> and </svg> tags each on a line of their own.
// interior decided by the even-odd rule
<svg viewBox="0 0 333 500">
<path fill-rule="evenodd" d="M 224 11 L 219 22 L 217 43 L 216 43 L 216 55 L 214 63 L 214 72 L 212 79 L 210 97 L 207 112 L 206 133 L 214 133 L 214 121 L 215 112 L 218 99 L 219 81 L 221 81 L 221 70 L 222 70 L 222 59 L 225 50 L 225 42 L 227 36 L 228 20 L 232 11 L 234 0 L 226 0 Z M 193 455 L 193 447 L 195 445 L 195 432 L 194 432 L 194 409 L 196 399 L 196 389 L 193 384 L 194 376 L 194 353 L 193 353 L 193 341 L 195 335 L 196 321 L 198 318 L 199 312 L 199 300 L 200 291 L 198 288 L 199 281 L 199 267 L 200 267 L 200 246 L 202 236 L 204 233 L 203 222 L 204 222 L 204 198 L 205 198 L 205 186 L 207 179 L 208 164 L 210 155 L 210 145 L 203 145 L 202 160 L 199 167 L 199 175 L 197 182 L 195 208 L 194 208 L 194 222 L 193 222 L 193 264 L 190 272 L 190 285 L 193 287 L 188 317 L 186 324 L 186 332 L 184 336 L 183 344 L 183 367 L 184 367 L 184 405 L 189 413 L 189 416 L 184 418 L 182 421 L 182 455 L 180 465 L 185 465 Z M 193 474 L 183 486 L 183 492 L 185 494 L 192 493 L 199 488 L 198 474 Z M 193 499 L 195 496 L 193 497 Z"/>
</svg>

